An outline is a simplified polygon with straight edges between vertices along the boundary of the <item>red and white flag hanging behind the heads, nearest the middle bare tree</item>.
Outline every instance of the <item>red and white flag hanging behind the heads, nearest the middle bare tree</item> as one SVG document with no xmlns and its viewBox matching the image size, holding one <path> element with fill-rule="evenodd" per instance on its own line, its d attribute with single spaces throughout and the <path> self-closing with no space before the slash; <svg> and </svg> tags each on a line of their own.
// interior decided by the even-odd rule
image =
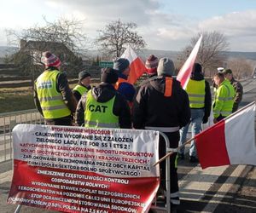
<svg viewBox="0 0 256 213">
<path fill-rule="evenodd" d="M 128 77 L 128 82 L 131 84 L 136 83 L 137 78 L 140 78 L 144 72 L 146 72 L 146 67 L 143 63 L 143 60 L 137 56 L 134 49 L 131 48 L 129 44 L 127 49 L 120 58 L 125 58 L 130 61 L 130 75 Z"/>
</svg>

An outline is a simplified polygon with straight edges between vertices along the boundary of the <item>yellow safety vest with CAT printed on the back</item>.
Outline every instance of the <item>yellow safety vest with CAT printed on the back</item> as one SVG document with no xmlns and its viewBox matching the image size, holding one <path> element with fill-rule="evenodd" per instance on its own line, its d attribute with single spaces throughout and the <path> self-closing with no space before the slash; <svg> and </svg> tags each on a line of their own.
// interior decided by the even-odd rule
<svg viewBox="0 0 256 213">
<path fill-rule="evenodd" d="M 87 93 L 84 110 L 84 126 L 96 128 L 119 128 L 119 117 L 113 114 L 115 96 L 107 102 L 101 103 Z"/>
</svg>

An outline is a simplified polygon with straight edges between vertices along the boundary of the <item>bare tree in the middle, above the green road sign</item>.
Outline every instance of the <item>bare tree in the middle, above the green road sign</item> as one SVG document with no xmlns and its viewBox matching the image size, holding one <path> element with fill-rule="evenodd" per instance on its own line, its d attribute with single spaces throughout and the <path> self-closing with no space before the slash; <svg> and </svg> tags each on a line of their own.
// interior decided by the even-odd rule
<svg viewBox="0 0 256 213">
<path fill-rule="evenodd" d="M 146 46 L 143 37 L 136 32 L 137 24 L 116 20 L 99 31 L 96 43 L 108 55 L 119 57 L 125 51 L 125 45 L 130 43 L 134 49 L 143 49 Z"/>
</svg>

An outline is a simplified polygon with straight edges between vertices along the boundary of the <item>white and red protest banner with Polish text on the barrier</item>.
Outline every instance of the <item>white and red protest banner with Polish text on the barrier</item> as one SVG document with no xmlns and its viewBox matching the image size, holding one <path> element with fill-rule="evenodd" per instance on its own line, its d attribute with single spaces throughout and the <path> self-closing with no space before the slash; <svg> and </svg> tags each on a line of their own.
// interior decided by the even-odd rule
<svg viewBox="0 0 256 213">
<path fill-rule="evenodd" d="M 160 183 L 159 132 L 19 124 L 9 204 L 146 212 Z"/>
</svg>

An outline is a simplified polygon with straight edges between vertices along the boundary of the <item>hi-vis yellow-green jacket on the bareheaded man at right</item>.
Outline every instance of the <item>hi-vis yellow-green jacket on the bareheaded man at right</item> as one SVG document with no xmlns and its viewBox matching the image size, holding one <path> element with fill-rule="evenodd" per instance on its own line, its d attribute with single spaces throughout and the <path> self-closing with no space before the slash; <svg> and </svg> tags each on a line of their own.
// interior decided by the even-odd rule
<svg viewBox="0 0 256 213">
<path fill-rule="evenodd" d="M 218 87 L 213 101 L 213 117 L 218 118 L 221 114 L 224 117 L 232 113 L 234 104 L 235 89 L 229 80 L 224 80 Z"/>
</svg>

